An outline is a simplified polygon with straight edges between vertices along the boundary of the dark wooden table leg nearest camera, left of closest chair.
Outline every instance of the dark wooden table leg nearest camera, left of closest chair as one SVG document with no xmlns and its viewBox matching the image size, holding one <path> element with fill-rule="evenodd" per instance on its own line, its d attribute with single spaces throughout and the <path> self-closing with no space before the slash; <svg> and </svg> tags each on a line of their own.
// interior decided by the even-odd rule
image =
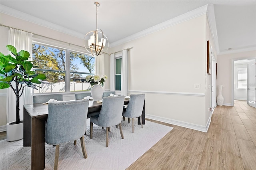
<svg viewBox="0 0 256 170">
<path fill-rule="evenodd" d="M 43 170 L 45 167 L 45 121 L 32 118 L 31 169 Z"/>
</svg>

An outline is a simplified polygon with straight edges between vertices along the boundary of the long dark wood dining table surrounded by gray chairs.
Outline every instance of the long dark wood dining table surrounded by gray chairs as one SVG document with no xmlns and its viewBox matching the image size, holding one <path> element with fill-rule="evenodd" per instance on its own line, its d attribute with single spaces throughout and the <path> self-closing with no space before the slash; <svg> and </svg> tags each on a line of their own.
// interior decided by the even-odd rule
<svg viewBox="0 0 256 170">
<path fill-rule="evenodd" d="M 128 105 L 129 99 L 124 99 Z M 87 118 L 100 111 L 102 103 L 90 100 Z M 45 103 L 24 105 L 23 146 L 31 146 L 31 169 L 45 168 L 45 125 L 48 117 L 48 105 Z M 72 113 L 70 113 L 72 114 Z M 138 118 L 140 125 L 140 119 Z M 145 100 L 142 111 L 142 124 L 145 124 Z"/>
</svg>

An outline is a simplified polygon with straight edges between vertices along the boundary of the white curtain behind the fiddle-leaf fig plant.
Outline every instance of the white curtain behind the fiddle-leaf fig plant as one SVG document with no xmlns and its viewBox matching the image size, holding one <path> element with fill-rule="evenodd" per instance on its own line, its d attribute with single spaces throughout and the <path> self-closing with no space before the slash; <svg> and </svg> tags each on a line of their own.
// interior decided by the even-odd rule
<svg viewBox="0 0 256 170">
<path fill-rule="evenodd" d="M 13 45 L 17 52 L 26 50 L 30 53 L 29 61 L 32 61 L 32 33 L 17 30 L 15 28 L 9 29 L 9 45 Z M 10 53 L 12 55 L 12 53 Z M 12 57 L 14 57 L 12 55 Z M 30 87 L 25 87 L 22 96 L 20 97 L 20 120 L 23 120 L 23 105 L 33 103 L 34 91 Z M 16 121 L 16 95 L 12 88 L 7 89 L 6 97 L 6 112 L 7 112 L 7 123 Z"/>
</svg>

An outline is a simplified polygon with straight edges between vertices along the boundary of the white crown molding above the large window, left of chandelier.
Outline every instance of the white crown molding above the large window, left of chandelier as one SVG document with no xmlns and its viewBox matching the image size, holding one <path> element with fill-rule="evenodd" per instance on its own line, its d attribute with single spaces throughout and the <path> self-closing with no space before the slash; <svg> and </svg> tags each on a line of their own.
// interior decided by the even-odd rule
<svg viewBox="0 0 256 170">
<path fill-rule="evenodd" d="M 52 22 L 48 22 L 48 21 L 42 20 L 40 18 L 31 16 L 28 14 L 25 14 L 24 12 L 14 10 L 14 9 L 4 6 L 4 5 L 1 5 L 0 12 L 10 15 L 10 16 L 14 16 L 15 18 L 20 18 L 22 20 L 32 22 L 34 24 L 38 24 L 40 26 L 44 26 L 46 28 L 50 28 L 52 30 L 56 30 L 58 32 L 62 32 L 64 34 L 68 34 L 70 36 L 74 36 L 76 38 L 81 38 L 81 39 L 84 38 L 84 35 L 79 32 L 64 28 L 64 27 L 54 24 Z"/>
</svg>

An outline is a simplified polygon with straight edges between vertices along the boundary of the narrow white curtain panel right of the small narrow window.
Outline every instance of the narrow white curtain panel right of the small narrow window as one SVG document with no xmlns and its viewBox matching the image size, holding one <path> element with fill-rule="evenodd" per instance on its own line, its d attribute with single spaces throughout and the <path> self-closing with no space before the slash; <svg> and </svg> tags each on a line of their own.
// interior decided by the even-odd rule
<svg viewBox="0 0 256 170">
<path fill-rule="evenodd" d="M 128 61 L 127 49 L 122 50 L 122 66 L 121 66 L 121 95 L 127 96 L 128 93 Z"/>
</svg>

